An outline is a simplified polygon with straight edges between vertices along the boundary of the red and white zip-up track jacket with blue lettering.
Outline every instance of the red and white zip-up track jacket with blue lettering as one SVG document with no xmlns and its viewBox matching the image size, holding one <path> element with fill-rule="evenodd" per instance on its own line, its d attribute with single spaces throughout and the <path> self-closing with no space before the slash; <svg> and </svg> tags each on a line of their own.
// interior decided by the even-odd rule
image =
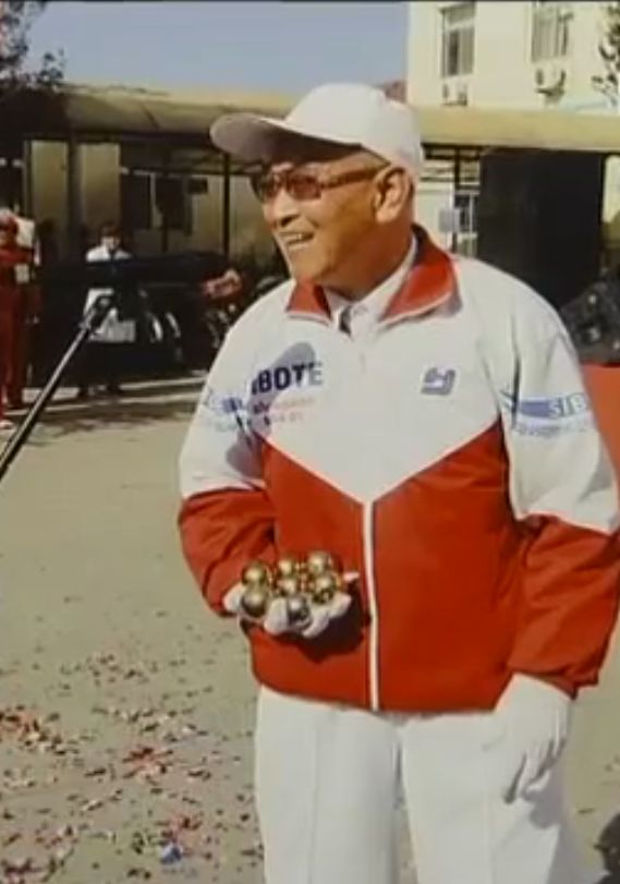
<svg viewBox="0 0 620 884">
<path fill-rule="evenodd" d="M 574 694 L 597 679 L 620 578 L 575 354 L 535 292 L 416 232 L 363 347 L 292 281 L 232 328 L 181 455 L 185 556 L 220 613 L 250 559 L 326 548 L 362 574 L 318 639 L 247 628 L 276 690 L 490 709 L 520 671 Z"/>
</svg>

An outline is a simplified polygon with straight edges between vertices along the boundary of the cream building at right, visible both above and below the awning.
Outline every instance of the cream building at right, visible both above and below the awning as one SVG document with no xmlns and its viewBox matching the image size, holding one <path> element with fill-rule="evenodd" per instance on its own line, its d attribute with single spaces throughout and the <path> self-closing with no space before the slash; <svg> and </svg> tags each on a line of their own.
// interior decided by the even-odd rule
<svg viewBox="0 0 620 884">
<path fill-rule="evenodd" d="M 599 45 L 605 2 L 410 2 L 406 98 L 413 105 L 503 110 L 620 113 L 618 96 L 595 78 L 605 73 Z M 575 121 L 575 124 L 583 124 Z M 601 222 L 608 252 L 620 252 L 620 164 L 607 162 Z M 430 161 L 420 189 L 422 220 L 445 244 L 475 251 L 476 173 L 447 180 Z"/>
</svg>

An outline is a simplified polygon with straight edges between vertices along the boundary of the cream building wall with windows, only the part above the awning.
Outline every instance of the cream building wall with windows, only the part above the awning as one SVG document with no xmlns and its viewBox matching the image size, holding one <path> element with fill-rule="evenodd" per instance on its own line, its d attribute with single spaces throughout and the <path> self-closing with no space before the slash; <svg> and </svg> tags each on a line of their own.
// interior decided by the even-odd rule
<svg viewBox="0 0 620 884">
<path fill-rule="evenodd" d="M 408 98 L 423 105 L 612 111 L 603 2 L 409 4 Z"/>
</svg>

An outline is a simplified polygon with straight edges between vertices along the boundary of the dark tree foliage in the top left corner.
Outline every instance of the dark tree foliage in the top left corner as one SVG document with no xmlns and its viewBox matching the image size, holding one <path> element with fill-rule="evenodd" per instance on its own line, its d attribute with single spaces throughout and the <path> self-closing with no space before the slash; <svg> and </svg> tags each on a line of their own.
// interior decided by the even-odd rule
<svg viewBox="0 0 620 884">
<path fill-rule="evenodd" d="M 46 52 L 38 66 L 29 64 L 29 32 L 48 0 L 0 0 L 0 92 L 53 88 L 63 80 L 62 52 Z"/>
</svg>

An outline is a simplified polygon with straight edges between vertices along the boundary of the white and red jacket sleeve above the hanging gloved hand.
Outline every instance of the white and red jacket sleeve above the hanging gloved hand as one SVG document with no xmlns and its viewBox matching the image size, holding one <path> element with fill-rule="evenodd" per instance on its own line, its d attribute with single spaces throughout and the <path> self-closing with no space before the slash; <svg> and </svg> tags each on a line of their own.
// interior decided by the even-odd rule
<svg viewBox="0 0 620 884">
<path fill-rule="evenodd" d="M 575 695 L 596 683 L 616 621 L 618 493 L 568 332 L 538 299 L 515 313 L 502 411 L 512 506 L 531 543 L 509 665 Z"/>
</svg>

